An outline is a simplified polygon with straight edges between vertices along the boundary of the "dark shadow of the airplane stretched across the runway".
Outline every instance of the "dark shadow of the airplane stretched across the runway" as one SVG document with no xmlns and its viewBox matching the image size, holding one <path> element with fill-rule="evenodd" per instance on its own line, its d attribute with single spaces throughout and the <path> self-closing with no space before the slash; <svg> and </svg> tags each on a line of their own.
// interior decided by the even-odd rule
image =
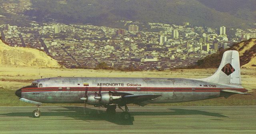
<svg viewBox="0 0 256 134">
<path fill-rule="evenodd" d="M 52 112 L 42 112 L 42 117 L 44 116 L 64 116 L 70 117 L 78 120 L 84 120 L 90 122 L 90 120 L 106 120 L 108 122 L 112 122 L 119 125 L 132 125 L 134 121 L 133 116 L 138 115 L 146 115 L 146 116 L 154 116 L 154 115 L 206 115 L 210 117 L 226 117 L 219 113 L 210 113 L 205 111 L 198 110 L 187 110 L 187 109 L 169 109 L 168 112 L 129 112 L 131 114 L 130 120 L 124 120 L 121 118 L 122 112 L 116 112 L 114 115 L 109 115 L 106 111 L 90 109 L 85 107 L 64 107 L 66 109 L 48 109 L 48 111 Z M 15 116 L 15 117 L 32 117 L 32 112 L 27 113 L 6 113 L 0 114 L 6 116 Z"/>
</svg>

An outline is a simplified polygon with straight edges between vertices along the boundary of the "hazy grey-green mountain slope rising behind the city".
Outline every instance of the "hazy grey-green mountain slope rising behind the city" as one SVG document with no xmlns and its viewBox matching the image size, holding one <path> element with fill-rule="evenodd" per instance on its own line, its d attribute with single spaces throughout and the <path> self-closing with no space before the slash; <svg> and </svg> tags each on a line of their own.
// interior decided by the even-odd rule
<svg viewBox="0 0 256 134">
<path fill-rule="evenodd" d="M 245 4 L 239 9 L 237 9 L 239 5 L 234 0 L 222 0 L 222 3 L 204 0 L 32 0 L 31 2 L 33 10 L 26 10 L 24 14 L 36 21 L 54 20 L 62 23 L 112 26 L 115 26 L 113 21 L 116 20 L 172 24 L 190 22 L 192 25 L 215 28 L 222 25 L 244 27 L 241 24 L 256 21 L 256 8 L 252 6 L 255 5 L 255 0 L 245 0 Z"/>
</svg>

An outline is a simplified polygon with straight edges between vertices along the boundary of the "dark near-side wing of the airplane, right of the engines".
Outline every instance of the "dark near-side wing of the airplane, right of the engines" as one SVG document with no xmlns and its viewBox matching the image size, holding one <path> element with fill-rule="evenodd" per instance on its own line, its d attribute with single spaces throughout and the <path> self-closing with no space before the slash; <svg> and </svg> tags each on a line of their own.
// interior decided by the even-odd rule
<svg viewBox="0 0 256 134">
<path fill-rule="evenodd" d="M 152 95 L 152 94 L 135 94 L 135 95 L 125 95 L 122 97 L 126 103 L 134 103 L 140 106 L 145 106 L 150 103 L 153 99 L 160 97 L 162 95 Z"/>
</svg>

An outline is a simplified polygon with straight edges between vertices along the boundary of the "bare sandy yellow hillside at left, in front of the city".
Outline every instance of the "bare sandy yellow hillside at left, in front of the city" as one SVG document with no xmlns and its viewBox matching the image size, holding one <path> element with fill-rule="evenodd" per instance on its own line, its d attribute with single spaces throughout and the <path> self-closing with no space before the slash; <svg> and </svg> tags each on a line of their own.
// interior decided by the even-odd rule
<svg viewBox="0 0 256 134">
<path fill-rule="evenodd" d="M 0 64 L 60 68 L 56 60 L 45 52 L 24 47 L 10 47 L 0 40 Z"/>
</svg>

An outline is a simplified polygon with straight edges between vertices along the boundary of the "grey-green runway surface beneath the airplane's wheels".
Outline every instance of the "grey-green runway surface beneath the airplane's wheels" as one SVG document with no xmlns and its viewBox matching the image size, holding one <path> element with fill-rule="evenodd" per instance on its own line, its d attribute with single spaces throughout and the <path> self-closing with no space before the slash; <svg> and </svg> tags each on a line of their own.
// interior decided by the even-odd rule
<svg viewBox="0 0 256 134">
<path fill-rule="evenodd" d="M 100 107 L 0 107 L 0 134 L 256 133 L 256 106 L 128 106 L 132 119 Z"/>
</svg>

